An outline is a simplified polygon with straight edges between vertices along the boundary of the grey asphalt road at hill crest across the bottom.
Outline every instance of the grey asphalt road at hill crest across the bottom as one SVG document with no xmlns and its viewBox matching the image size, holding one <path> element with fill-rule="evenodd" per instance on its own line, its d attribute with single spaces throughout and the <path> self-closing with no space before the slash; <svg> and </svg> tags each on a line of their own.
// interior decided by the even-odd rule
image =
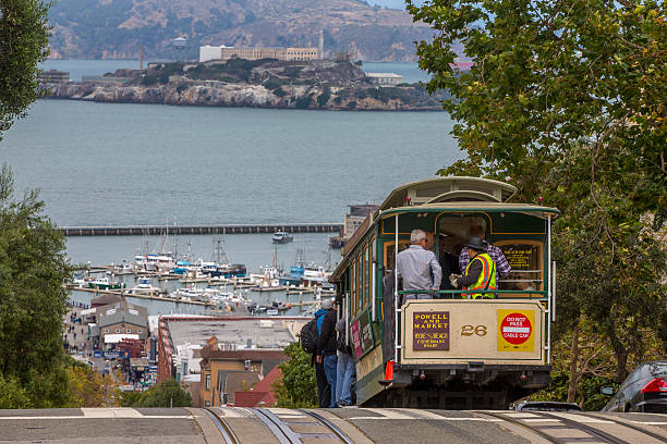
<svg viewBox="0 0 667 444">
<path fill-rule="evenodd" d="M 260 415 L 262 411 L 267 415 Z M 211 411 L 215 415 L 209 415 L 198 408 L 0 410 L 0 443 L 225 443 L 216 418 L 220 418 L 241 443 L 284 443 L 284 437 L 282 441 L 278 437 L 279 428 L 298 440 L 292 442 L 341 442 L 325 422 L 307 412 L 288 409 L 262 411 L 216 408 Z M 667 415 L 368 408 L 313 411 L 338 428 L 349 442 L 356 444 L 667 442 Z M 610 433 L 607 436 L 617 441 L 586 437 L 586 430 L 587 433 L 607 431 Z"/>
</svg>

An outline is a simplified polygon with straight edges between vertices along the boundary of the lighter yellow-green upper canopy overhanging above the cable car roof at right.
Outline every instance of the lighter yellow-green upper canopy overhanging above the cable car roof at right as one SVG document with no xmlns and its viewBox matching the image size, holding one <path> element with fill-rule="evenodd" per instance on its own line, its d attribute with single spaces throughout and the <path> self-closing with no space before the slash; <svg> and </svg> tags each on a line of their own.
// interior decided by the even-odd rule
<svg viewBox="0 0 667 444">
<path fill-rule="evenodd" d="M 623 146 L 633 156 L 620 152 L 619 166 L 647 178 L 635 197 L 667 211 L 664 9 L 653 0 L 619 3 L 409 1 L 414 20 L 437 30 L 417 54 L 433 75 L 428 90 L 452 96 L 444 106 L 469 156 L 454 168 L 521 176 L 533 200 L 572 140 L 590 140 L 594 153 Z M 458 42 L 475 63 L 468 72 L 451 66 Z"/>
</svg>

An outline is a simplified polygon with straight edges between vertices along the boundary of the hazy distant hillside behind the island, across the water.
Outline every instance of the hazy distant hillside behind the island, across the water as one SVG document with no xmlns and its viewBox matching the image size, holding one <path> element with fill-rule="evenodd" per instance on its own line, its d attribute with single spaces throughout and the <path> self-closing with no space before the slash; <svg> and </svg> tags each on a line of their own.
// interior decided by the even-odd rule
<svg viewBox="0 0 667 444">
<path fill-rule="evenodd" d="M 317 46 L 368 61 L 414 61 L 432 30 L 404 11 L 356 0 L 59 0 L 50 12 L 53 58 L 195 58 L 199 45 Z M 184 49 L 171 46 L 187 37 Z"/>
</svg>

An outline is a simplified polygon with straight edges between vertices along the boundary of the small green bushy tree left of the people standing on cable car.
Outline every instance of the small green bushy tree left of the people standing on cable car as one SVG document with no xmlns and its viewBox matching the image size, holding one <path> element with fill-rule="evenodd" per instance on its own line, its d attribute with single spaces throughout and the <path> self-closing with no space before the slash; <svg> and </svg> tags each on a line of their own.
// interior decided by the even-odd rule
<svg viewBox="0 0 667 444">
<path fill-rule="evenodd" d="M 316 408 L 317 381 L 315 369 L 311 366 L 311 355 L 298 342 L 288 345 L 284 354 L 290 360 L 278 366 L 282 378 L 272 386 L 276 407 Z"/>
</svg>

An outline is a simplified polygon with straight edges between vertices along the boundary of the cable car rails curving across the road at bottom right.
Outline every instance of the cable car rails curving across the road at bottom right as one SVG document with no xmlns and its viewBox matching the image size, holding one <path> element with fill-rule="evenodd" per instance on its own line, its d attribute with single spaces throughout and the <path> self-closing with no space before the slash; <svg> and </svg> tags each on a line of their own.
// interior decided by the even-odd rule
<svg viewBox="0 0 667 444">
<path fill-rule="evenodd" d="M 519 425 L 522 427 L 524 429 L 530 430 L 532 433 L 535 433 L 537 435 L 539 435 L 541 437 L 545 439 L 546 441 L 554 443 L 554 444 L 572 444 L 572 443 L 579 443 L 582 441 L 582 437 L 568 437 L 568 436 L 558 436 L 556 434 L 549 433 L 550 431 L 555 431 L 555 430 L 559 430 L 562 431 L 563 429 L 568 429 L 568 430 L 578 430 L 580 432 L 584 432 L 589 435 L 589 437 L 586 439 L 592 439 L 592 440 L 597 440 L 604 443 L 609 443 L 609 444 L 632 444 L 632 442 L 630 441 L 624 441 L 621 440 L 620 437 L 614 436 L 610 433 L 607 433 L 603 430 L 599 430 L 595 427 L 591 427 L 587 425 L 586 423 L 580 422 L 580 421 L 575 421 L 573 419 L 570 418 L 566 418 L 563 416 L 560 415 L 553 415 L 553 414 L 548 414 L 548 412 L 544 412 L 544 411 L 526 411 L 526 414 L 530 414 L 531 417 L 525 417 L 525 418 L 516 418 L 516 417 L 510 417 L 506 414 L 502 412 L 490 412 L 490 411 L 484 411 L 482 412 L 483 415 L 488 415 L 492 416 L 494 418 L 500 419 L 502 421 L 507 421 L 509 423 L 512 423 L 514 425 Z M 635 425 L 631 425 L 631 424 L 627 424 L 623 423 L 621 421 L 615 421 L 613 419 L 608 419 L 607 417 L 596 417 L 593 415 L 585 415 L 585 414 L 573 414 L 575 416 L 581 416 L 584 418 L 590 418 L 590 419 L 595 419 L 596 421 L 599 422 L 613 422 L 615 424 L 628 428 L 628 429 L 632 429 L 636 432 L 640 432 L 642 434 L 648 435 L 651 437 L 654 437 L 656 440 L 658 440 L 658 442 L 664 442 L 665 437 L 660 436 L 656 433 L 653 433 L 651 431 L 646 431 L 643 430 L 639 427 Z M 530 420 L 531 422 L 526 422 L 526 419 Z M 550 423 L 548 424 L 538 424 L 535 422 L 538 422 L 539 419 L 544 419 L 546 421 L 549 421 Z M 554 425 L 554 421 L 558 421 L 560 422 L 560 425 Z"/>
</svg>

